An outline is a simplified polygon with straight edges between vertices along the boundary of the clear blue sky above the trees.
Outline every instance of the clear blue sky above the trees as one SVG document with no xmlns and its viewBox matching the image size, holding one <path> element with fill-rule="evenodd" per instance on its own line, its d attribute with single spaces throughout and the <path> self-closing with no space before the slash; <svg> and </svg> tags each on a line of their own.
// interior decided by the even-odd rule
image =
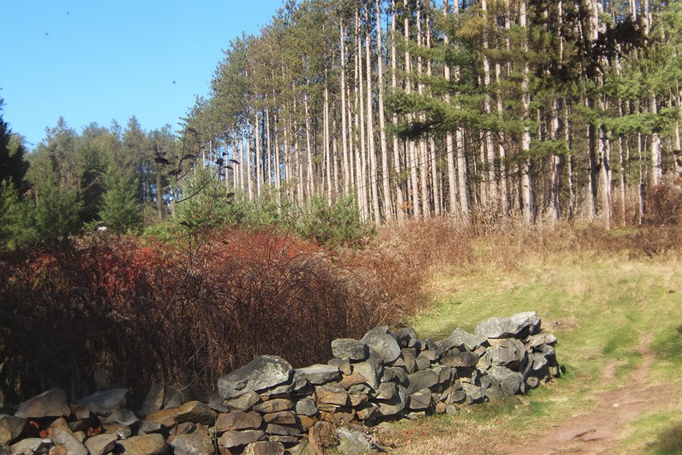
<svg viewBox="0 0 682 455">
<path fill-rule="evenodd" d="M 135 115 L 144 129 L 206 95 L 222 50 L 257 33 L 282 0 L 0 0 L 0 97 L 33 147 L 63 115 L 71 127 Z M 173 83 L 175 81 L 175 83 Z"/>
</svg>

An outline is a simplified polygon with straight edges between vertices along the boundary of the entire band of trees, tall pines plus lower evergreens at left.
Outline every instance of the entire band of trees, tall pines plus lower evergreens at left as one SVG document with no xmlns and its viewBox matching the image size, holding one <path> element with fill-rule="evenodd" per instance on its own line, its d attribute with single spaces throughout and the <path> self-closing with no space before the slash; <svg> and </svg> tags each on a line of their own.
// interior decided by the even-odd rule
<svg viewBox="0 0 682 455">
<path fill-rule="evenodd" d="M 648 196 L 681 183 L 681 28 L 679 0 L 287 1 L 229 43 L 177 132 L 60 119 L 29 153 L 0 122 L 0 237 L 206 213 L 305 213 L 301 232 L 642 224 Z"/>
</svg>

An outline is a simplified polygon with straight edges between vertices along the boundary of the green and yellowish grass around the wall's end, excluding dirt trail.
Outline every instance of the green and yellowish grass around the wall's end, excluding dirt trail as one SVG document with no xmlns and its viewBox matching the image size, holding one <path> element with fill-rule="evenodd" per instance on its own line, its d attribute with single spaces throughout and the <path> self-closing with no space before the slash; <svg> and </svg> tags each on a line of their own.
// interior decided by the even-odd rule
<svg viewBox="0 0 682 455">
<path fill-rule="evenodd" d="M 514 272 L 481 267 L 443 274 L 434 287 L 438 304 L 411 321 L 420 336 L 437 340 L 458 326 L 473 331 L 477 323 L 492 316 L 534 310 L 546 331 L 557 336 L 557 357 L 567 372 L 524 397 L 469 407 L 453 417 L 424 419 L 420 425 L 427 429 L 433 425 L 438 431 L 458 428 L 461 433 L 468 428 L 466 435 L 451 436 L 479 440 L 490 437 L 483 430 L 490 422 L 500 437 L 540 431 L 561 416 L 583 410 L 595 389 L 624 384 L 628 373 L 642 362 L 642 345 L 655 353 L 648 381 L 682 386 L 682 264 L 677 262 L 565 254 L 524 264 Z M 617 365 L 615 378 L 602 380 L 610 363 Z M 679 429 L 679 425 L 668 423 L 657 432 L 642 432 L 639 440 L 653 444 L 651 447 L 674 446 L 675 438 L 666 432 Z M 406 428 L 402 425 L 406 424 L 399 428 Z M 633 431 L 644 426 L 646 422 L 638 421 Z M 485 444 L 480 451 L 475 447 L 466 450 L 504 453 Z M 669 453 L 655 450 L 647 453 Z"/>
</svg>

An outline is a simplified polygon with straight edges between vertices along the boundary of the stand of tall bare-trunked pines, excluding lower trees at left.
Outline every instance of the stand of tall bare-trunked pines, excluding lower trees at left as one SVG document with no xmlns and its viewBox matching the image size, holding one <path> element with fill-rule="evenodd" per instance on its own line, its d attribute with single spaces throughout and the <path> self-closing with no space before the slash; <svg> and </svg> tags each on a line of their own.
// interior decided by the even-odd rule
<svg viewBox="0 0 682 455">
<path fill-rule="evenodd" d="M 251 199 L 637 224 L 681 176 L 681 27 L 679 1 L 289 1 L 186 121 Z"/>
</svg>

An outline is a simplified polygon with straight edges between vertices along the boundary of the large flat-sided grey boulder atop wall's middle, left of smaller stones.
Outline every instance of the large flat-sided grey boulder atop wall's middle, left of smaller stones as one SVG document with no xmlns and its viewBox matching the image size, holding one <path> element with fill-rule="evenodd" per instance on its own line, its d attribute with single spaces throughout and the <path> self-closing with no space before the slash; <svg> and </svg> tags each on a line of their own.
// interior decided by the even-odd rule
<svg viewBox="0 0 682 455">
<path fill-rule="evenodd" d="M 261 355 L 242 368 L 218 379 L 218 393 L 223 400 L 239 397 L 250 390 L 259 392 L 291 380 L 293 368 L 281 357 Z"/>
</svg>

